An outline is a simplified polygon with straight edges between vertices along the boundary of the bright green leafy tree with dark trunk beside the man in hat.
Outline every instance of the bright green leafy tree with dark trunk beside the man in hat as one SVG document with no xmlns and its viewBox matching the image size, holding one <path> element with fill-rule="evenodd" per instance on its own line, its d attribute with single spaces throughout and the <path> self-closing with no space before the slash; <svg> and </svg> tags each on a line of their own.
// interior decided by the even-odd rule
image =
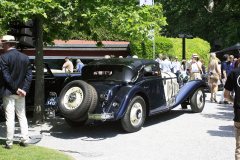
<svg viewBox="0 0 240 160">
<path fill-rule="evenodd" d="M 85 32 L 97 45 L 101 39 L 91 28 L 106 28 L 112 34 L 128 39 L 147 40 L 153 28 L 160 30 L 166 24 L 161 5 L 137 6 L 134 0 L 2 0 L 1 27 L 7 29 L 9 21 L 36 19 L 36 84 L 34 122 L 40 123 L 44 115 L 43 45 L 54 39 L 68 40 L 75 32 Z M 38 96 L 38 97 L 37 97 Z"/>
</svg>

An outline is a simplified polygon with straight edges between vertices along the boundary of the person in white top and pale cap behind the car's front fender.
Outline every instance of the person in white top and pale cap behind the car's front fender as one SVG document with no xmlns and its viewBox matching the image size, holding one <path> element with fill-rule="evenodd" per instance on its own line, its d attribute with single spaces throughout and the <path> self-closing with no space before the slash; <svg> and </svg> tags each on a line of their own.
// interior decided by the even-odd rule
<svg viewBox="0 0 240 160">
<path fill-rule="evenodd" d="M 202 73 L 202 63 L 199 61 L 199 57 L 197 54 L 193 54 L 193 60 L 192 63 L 189 66 L 189 71 L 191 72 L 190 74 L 190 80 L 195 80 L 195 79 L 202 79 L 201 78 L 201 73 Z"/>
</svg>

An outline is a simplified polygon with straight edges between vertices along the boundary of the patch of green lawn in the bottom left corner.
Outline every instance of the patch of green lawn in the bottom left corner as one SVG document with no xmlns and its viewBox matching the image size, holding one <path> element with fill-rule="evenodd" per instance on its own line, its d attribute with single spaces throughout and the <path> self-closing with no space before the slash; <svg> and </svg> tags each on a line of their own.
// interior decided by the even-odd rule
<svg viewBox="0 0 240 160">
<path fill-rule="evenodd" d="M 74 160 L 73 157 L 53 149 L 29 145 L 28 148 L 20 147 L 14 142 L 13 149 L 2 148 L 6 141 L 0 140 L 0 160 Z"/>
</svg>

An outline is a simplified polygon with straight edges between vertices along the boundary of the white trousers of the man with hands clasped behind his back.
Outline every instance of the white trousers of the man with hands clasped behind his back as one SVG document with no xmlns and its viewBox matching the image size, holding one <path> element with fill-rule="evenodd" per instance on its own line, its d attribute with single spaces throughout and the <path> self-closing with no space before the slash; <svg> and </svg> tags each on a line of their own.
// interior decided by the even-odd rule
<svg viewBox="0 0 240 160">
<path fill-rule="evenodd" d="M 6 95 L 3 97 L 3 107 L 5 110 L 7 126 L 7 145 L 13 144 L 13 135 L 15 130 L 15 112 L 21 128 L 21 141 L 28 143 L 28 122 L 25 112 L 25 97 L 18 95 Z"/>
</svg>

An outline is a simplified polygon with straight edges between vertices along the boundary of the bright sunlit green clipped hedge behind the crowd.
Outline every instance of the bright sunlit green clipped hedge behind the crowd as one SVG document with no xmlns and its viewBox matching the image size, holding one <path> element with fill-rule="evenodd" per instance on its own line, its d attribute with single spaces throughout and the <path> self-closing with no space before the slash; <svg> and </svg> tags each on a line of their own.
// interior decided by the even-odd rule
<svg viewBox="0 0 240 160">
<path fill-rule="evenodd" d="M 139 58 L 153 59 L 153 41 L 147 42 L 130 41 L 131 55 L 137 55 Z M 210 44 L 200 38 L 185 39 L 185 58 L 189 60 L 192 54 L 197 53 L 200 59 L 205 60 L 207 65 L 209 61 Z M 163 57 L 170 58 L 178 56 L 182 60 L 182 39 L 181 38 L 155 38 L 155 59 L 161 53 Z"/>
</svg>

